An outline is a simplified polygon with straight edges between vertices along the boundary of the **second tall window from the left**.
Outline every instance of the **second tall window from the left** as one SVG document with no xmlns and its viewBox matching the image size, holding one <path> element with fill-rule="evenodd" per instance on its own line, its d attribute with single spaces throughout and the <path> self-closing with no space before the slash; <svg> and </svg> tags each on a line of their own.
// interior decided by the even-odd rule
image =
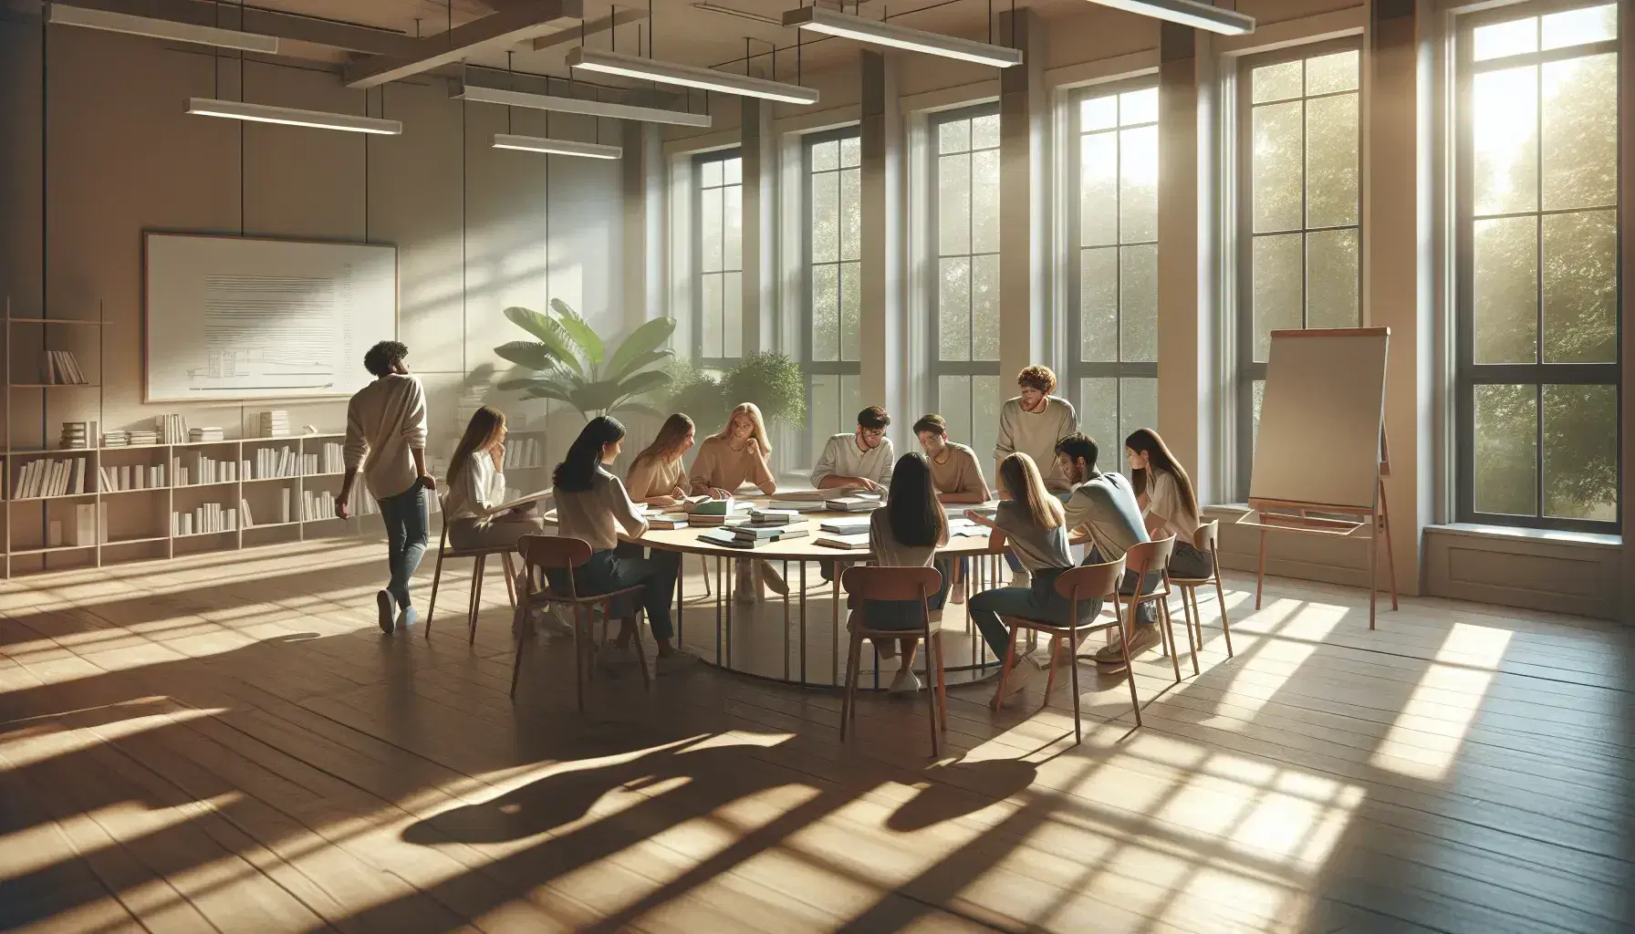
<svg viewBox="0 0 1635 934">
<path fill-rule="evenodd" d="M 862 308 L 862 144 L 857 128 L 806 139 L 806 460 L 857 425 Z M 899 414 L 901 415 L 901 414 Z"/>
</svg>

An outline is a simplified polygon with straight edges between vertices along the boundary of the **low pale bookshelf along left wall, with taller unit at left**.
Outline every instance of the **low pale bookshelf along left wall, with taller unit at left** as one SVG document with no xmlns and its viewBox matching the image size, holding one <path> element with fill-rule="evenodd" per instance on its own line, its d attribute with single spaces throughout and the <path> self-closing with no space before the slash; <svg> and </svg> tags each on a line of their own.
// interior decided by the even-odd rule
<svg viewBox="0 0 1635 934">
<path fill-rule="evenodd" d="M 101 433 L 106 425 L 101 384 L 101 308 L 98 306 L 96 319 L 15 317 L 8 301 L 5 312 L 7 419 L 0 445 L 3 577 L 360 535 L 366 522 L 378 522 L 374 517 L 379 510 L 368 499 L 361 478 L 353 489 L 352 519 L 338 520 L 332 510 L 319 514 L 302 509 L 309 496 L 312 499 L 327 496 L 329 499 L 322 502 L 329 504 L 340 492 L 345 471 L 319 468 L 337 466 L 335 448 L 325 451 L 325 445 L 340 445 L 345 440 L 342 433 L 103 447 Z M 52 350 L 75 353 L 85 383 L 43 383 L 41 360 Z M 87 399 L 90 393 L 96 394 L 95 402 Z M 36 415 L 41 443 L 13 445 L 18 429 L 31 429 Z M 88 447 L 54 447 L 60 443 L 52 437 L 60 424 L 52 422 L 65 419 L 93 420 L 88 425 Z M 244 430 L 242 414 L 239 425 Z M 267 455 L 260 453 L 263 450 L 288 450 L 293 463 L 284 466 L 289 473 L 262 476 L 258 468 L 268 463 Z M 188 468 L 190 479 L 198 476 L 193 471 L 199 465 L 199 456 L 217 465 L 232 465 L 232 479 L 206 484 L 178 483 L 177 468 Z M 83 460 L 83 489 L 70 487 L 67 494 L 18 497 L 21 471 L 29 463 L 52 460 Z M 250 465 L 249 469 L 244 469 L 245 461 Z M 162 483 L 152 483 L 155 468 L 164 468 Z M 103 483 L 105 471 L 119 489 Z M 126 476 L 131 478 L 129 486 Z M 141 486 L 137 476 L 144 481 Z M 288 517 L 283 512 L 284 502 L 289 504 Z M 244 504 L 250 507 L 252 525 L 244 523 Z M 172 528 L 172 514 L 191 515 L 193 510 L 217 505 L 222 515 L 227 509 L 235 510 L 232 528 L 188 533 Z M 78 520 L 83 515 L 78 507 L 90 507 L 88 541 L 82 541 L 78 535 Z M 435 497 L 430 501 L 430 509 L 437 512 Z M 60 543 L 52 537 L 54 523 L 60 523 Z"/>
</svg>

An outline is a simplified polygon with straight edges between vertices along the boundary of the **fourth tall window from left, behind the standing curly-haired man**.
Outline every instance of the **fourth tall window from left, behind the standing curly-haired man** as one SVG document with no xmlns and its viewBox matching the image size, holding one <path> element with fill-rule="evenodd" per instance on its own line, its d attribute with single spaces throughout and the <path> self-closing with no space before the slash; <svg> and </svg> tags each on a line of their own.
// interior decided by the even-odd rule
<svg viewBox="0 0 1635 934">
<path fill-rule="evenodd" d="M 1069 119 L 1079 275 L 1068 283 L 1074 353 L 1061 393 L 1077 393 L 1079 429 L 1117 451 L 1158 424 L 1158 87 L 1092 88 Z"/>
</svg>

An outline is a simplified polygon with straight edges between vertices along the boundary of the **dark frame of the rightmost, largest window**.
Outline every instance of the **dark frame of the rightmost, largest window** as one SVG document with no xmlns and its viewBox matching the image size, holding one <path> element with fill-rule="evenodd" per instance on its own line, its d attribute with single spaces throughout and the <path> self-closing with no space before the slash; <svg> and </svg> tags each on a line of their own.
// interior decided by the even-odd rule
<svg viewBox="0 0 1635 934">
<path fill-rule="evenodd" d="M 1619 132 L 1615 136 L 1617 154 L 1614 157 L 1619 180 L 1617 195 L 1614 204 L 1607 209 L 1614 213 L 1619 221 L 1617 245 L 1614 252 L 1614 276 L 1615 276 L 1615 299 L 1614 311 L 1615 321 L 1615 339 L 1614 360 L 1609 363 L 1547 363 L 1543 360 L 1543 350 L 1540 345 L 1539 360 L 1534 363 L 1475 363 L 1475 152 L 1473 152 L 1473 136 L 1475 123 L 1472 116 L 1472 87 L 1475 83 L 1475 75 L 1486 70 L 1499 70 L 1504 67 L 1517 67 L 1522 64 L 1543 65 L 1555 61 L 1578 59 L 1584 56 L 1612 52 L 1617 56 L 1619 80 L 1614 87 L 1622 88 L 1627 77 L 1628 62 L 1624 61 L 1622 43 L 1619 38 L 1606 39 L 1601 43 L 1589 43 L 1581 46 L 1568 46 L 1563 49 L 1550 49 L 1539 52 L 1524 52 L 1519 56 L 1503 56 L 1494 59 L 1486 59 L 1483 62 L 1475 62 L 1472 57 L 1475 44 L 1475 31 L 1480 26 L 1488 26 L 1494 23 L 1504 23 L 1512 20 L 1525 20 L 1530 16 L 1545 16 L 1550 13 L 1563 13 L 1568 10 L 1584 10 L 1591 7 L 1602 7 L 1602 2 L 1584 2 L 1584 0 L 1532 0 L 1527 3 L 1516 3 L 1507 7 L 1498 7 L 1493 10 L 1481 10 L 1476 13 L 1467 13 L 1458 16 L 1454 36 L 1454 519 L 1457 522 L 1470 522 L 1480 525 L 1498 525 L 1511 528 L 1539 528 L 1553 532 L 1588 532 L 1588 533 L 1609 533 L 1622 535 L 1624 530 L 1624 224 L 1622 224 L 1622 203 L 1625 198 L 1625 178 L 1622 172 L 1624 159 L 1624 100 L 1622 97 L 1614 100 L 1617 113 L 1614 119 L 1617 121 Z M 1620 10 L 1622 13 L 1622 10 Z M 1625 16 L 1619 18 L 1619 29 L 1627 29 L 1628 23 Z M 1542 80 L 1542 72 L 1540 72 Z M 1543 106 L 1543 100 L 1539 100 L 1539 106 Z M 1542 119 L 1542 110 L 1535 116 Z M 1537 134 L 1535 146 L 1542 149 L 1542 134 Z M 1535 178 L 1542 180 L 1543 165 L 1542 162 L 1534 168 Z M 1491 218 L 1537 218 L 1542 219 L 1552 214 L 1573 214 L 1583 211 L 1592 211 L 1602 208 L 1555 208 L 1545 209 L 1542 201 L 1532 211 L 1511 211 L 1503 214 L 1493 214 Z M 1543 340 L 1543 236 L 1542 231 L 1537 236 L 1537 267 L 1535 267 L 1535 290 L 1537 290 L 1537 309 L 1539 316 L 1539 340 Z M 1537 424 L 1534 429 L 1535 448 L 1534 448 L 1534 474 L 1535 483 L 1535 515 L 1509 515 L 1494 512 L 1478 512 L 1476 510 L 1476 456 L 1475 456 L 1475 388 L 1476 386 L 1532 386 L 1535 399 Z M 1617 406 L 1615 424 L 1615 447 L 1617 456 L 1617 509 L 1615 517 L 1610 522 L 1594 520 L 1594 519 L 1560 519 L 1547 517 L 1545 512 L 1545 447 L 1543 447 L 1543 430 L 1545 430 L 1545 409 L 1543 409 L 1543 388 L 1545 386 L 1612 386 L 1614 401 Z"/>
</svg>

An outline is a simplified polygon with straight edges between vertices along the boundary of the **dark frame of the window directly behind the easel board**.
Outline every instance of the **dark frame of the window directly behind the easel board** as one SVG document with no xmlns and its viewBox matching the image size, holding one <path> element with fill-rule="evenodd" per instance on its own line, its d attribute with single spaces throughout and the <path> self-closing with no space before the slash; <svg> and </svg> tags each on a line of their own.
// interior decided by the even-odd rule
<svg viewBox="0 0 1635 934">
<path fill-rule="evenodd" d="M 1305 209 L 1306 209 L 1306 183 L 1301 177 L 1300 186 L 1300 227 L 1282 231 L 1283 234 L 1300 232 L 1301 237 L 1311 232 L 1321 231 L 1344 231 L 1355 227 L 1357 231 L 1357 317 L 1359 326 L 1364 324 L 1364 309 L 1367 309 L 1367 275 L 1365 275 L 1365 254 L 1367 254 L 1367 229 L 1365 229 L 1365 213 L 1364 206 L 1368 198 L 1368 173 L 1365 170 L 1365 150 L 1364 150 L 1364 132 L 1367 129 L 1367 47 L 1362 36 L 1342 36 L 1337 39 L 1323 39 L 1318 43 L 1303 43 L 1298 46 L 1288 46 L 1283 49 L 1272 49 L 1265 52 L 1257 52 L 1252 56 L 1243 56 L 1238 59 L 1238 77 L 1236 77 L 1236 113 L 1234 113 L 1234 157 L 1236 157 L 1236 178 L 1233 178 L 1234 195 L 1233 203 L 1236 208 L 1236 216 L 1233 218 L 1233 234 L 1236 237 L 1236 283 L 1234 283 L 1234 314 L 1233 314 L 1233 368 L 1236 373 L 1236 386 L 1231 388 L 1233 397 L 1233 437 L 1236 443 L 1233 451 L 1236 453 L 1236 465 L 1233 469 L 1234 486 L 1238 491 L 1238 501 L 1244 501 L 1249 496 L 1249 478 L 1254 473 L 1254 384 L 1265 381 L 1265 363 L 1257 363 L 1254 360 L 1254 69 L 1265 65 L 1280 65 L 1293 61 L 1313 59 L 1333 52 L 1355 51 L 1357 52 L 1357 90 L 1355 92 L 1329 92 L 1319 95 L 1301 93 L 1298 98 L 1288 100 L 1319 100 L 1326 97 L 1339 97 L 1347 93 L 1357 95 L 1357 222 L 1355 224 L 1336 224 L 1329 227 L 1308 227 Z M 1305 82 L 1301 72 L 1301 82 Z M 1305 85 L 1301 83 L 1301 92 Z M 1279 101 L 1282 103 L 1282 101 Z M 1301 111 L 1305 113 L 1305 111 Z M 1301 121 L 1300 136 L 1300 165 L 1301 172 L 1306 165 L 1306 136 L 1305 123 Z M 1269 234 L 1261 234 L 1269 236 Z M 1301 252 L 1300 265 L 1300 321 L 1301 326 L 1306 322 L 1310 312 L 1308 308 L 1308 267 L 1306 255 Z"/>
</svg>

